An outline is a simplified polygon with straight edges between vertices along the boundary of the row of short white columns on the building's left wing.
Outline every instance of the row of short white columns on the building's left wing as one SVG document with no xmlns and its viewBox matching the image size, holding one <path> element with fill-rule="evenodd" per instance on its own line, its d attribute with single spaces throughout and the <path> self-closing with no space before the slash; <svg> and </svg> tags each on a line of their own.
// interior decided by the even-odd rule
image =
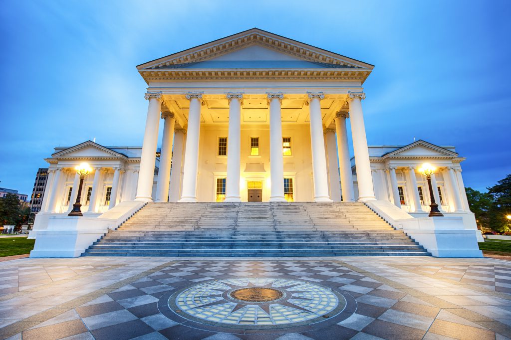
<svg viewBox="0 0 511 340">
<path fill-rule="evenodd" d="M 108 209 L 111 209 L 117 204 L 117 199 L 119 196 L 119 187 L 120 187 L 120 177 L 121 173 L 124 172 L 122 167 L 113 167 L 113 179 L 112 179 L 112 189 L 110 191 L 110 203 L 108 205 Z M 44 190 L 44 203 L 41 211 L 55 213 L 58 212 L 59 209 L 57 204 L 59 202 L 59 198 L 62 197 L 62 186 L 63 179 L 65 174 L 71 172 L 72 170 L 69 168 L 51 168 L 48 170 L 48 184 Z M 104 167 L 95 167 L 94 168 L 94 179 L 92 179 L 92 190 L 90 192 L 90 201 L 88 204 L 88 209 L 86 213 L 96 213 L 98 212 L 98 202 L 100 200 L 101 188 L 103 187 L 104 176 L 107 173 L 107 168 Z M 67 211 L 71 211 L 73 209 L 73 203 L 76 202 L 78 195 L 78 186 L 80 183 L 80 176 L 75 174 L 75 178 L 73 181 L 73 187 L 71 191 L 71 200 L 69 200 L 69 205 Z M 65 193 L 64 193 L 65 194 Z M 86 195 L 86 191 L 82 190 L 82 195 Z M 83 205 L 83 199 L 81 199 Z"/>
</svg>

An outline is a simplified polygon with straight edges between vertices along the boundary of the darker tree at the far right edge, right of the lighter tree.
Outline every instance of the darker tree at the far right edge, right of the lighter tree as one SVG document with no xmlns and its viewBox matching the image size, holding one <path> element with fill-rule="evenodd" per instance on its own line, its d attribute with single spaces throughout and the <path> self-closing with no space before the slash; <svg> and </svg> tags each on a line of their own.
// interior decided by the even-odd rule
<svg viewBox="0 0 511 340">
<path fill-rule="evenodd" d="M 507 215 L 511 214 L 511 174 L 488 188 L 492 197 L 492 206 L 489 211 L 490 226 L 492 229 L 510 233 L 511 221 Z"/>
</svg>

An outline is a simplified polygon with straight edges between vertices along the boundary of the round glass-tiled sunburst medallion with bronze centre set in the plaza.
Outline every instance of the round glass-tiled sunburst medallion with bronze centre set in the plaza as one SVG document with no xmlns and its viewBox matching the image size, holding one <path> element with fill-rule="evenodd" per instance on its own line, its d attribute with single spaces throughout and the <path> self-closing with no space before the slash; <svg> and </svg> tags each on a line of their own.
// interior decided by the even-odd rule
<svg viewBox="0 0 511 340">
<path fill-rule="evenodd" d="M 198 283 L 173 294 L 168 303 L 195 322 L 265 328 L 323 321 L 325 315 L 339 313 L 345 299 L 312 282 L 243 278 Z"/>
</svg>

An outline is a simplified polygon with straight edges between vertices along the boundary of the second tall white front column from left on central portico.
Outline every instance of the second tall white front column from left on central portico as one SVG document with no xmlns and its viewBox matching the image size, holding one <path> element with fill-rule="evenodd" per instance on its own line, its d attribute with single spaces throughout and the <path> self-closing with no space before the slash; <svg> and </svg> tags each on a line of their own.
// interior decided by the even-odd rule
<svg viewBox="0 0 511 340">
<path fill-rule="evenodd" d="M 197 202 L 197 170 L 199 165 L 200 106 L 202 94 L 189 93 L 187 149 L 184 152 L 183 194 L 179 202 Z"/>
</svg>

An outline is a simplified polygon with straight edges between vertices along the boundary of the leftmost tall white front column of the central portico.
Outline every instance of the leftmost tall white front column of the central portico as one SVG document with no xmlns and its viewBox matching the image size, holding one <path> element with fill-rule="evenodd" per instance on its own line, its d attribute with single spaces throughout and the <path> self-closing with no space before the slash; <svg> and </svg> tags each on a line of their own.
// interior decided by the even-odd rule
<svg viewBox="0 0 511 340">
<path fill-rule="evenodd" d="M 161 92 L 146 93 L 145 99 L 149 100 L 146 118 L 146 130 L 144 132 L 144 142 L 142 143 L 142 155 L 140 157 L 140 176 L 136 188 L 135 201 L 151 202 L 154 164 L 156 162 L 156 146 L 158 143 L 158 125 L 161 102 L 163 96 Z"/>
</svg>

